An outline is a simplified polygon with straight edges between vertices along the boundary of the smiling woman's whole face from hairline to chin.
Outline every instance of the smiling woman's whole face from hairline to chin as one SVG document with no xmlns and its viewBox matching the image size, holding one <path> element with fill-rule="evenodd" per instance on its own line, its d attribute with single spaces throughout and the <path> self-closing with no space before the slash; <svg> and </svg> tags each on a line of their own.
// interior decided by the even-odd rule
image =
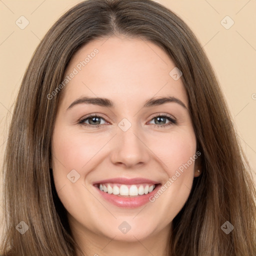
<svg viewBox="0 0 256 256">
<path fill-rule="evenodd" d="M 139 38 L 96 39 L 72 57 L 58 92 L 51 167 L 74 233 L 131 241 L 170 229 L 198 175 L 174 67 Z"/>
</svg>

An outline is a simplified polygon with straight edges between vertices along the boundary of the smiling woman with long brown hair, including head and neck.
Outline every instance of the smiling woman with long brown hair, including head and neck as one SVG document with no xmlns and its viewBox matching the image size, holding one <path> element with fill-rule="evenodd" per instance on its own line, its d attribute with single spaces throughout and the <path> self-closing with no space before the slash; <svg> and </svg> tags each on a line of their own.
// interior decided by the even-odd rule
<svg viewBox="0 0 256 256">
<path fill-rule="evenodd" d="M 256 252 L 251 171 L 213 70 L 150 0 L 87 0 L 50 28 L 4 175 L 1 255 Z"/>
</svg>

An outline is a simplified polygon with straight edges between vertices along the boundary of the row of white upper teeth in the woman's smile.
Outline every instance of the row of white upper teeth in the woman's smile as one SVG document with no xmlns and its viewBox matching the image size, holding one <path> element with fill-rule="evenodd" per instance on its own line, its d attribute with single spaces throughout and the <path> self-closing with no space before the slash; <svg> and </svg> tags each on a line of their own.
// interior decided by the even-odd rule
<svg viewBox="0 0 256 256">
<path fill-rule="evenodd" d="M 114 195 L 123 195 L 123 196 L 137 196 L 137 195 L 142 195 L 142 194 L 147 194 L 153 191 L 155 185 L 145 185 L 143 186 L 142 184 L 137 186 L 137 185 L 130 185 L 129 187 L 127 185 L 113 185 L 110 184 L 99 184 L 99 190 L 107 192 L 109 194 L 114 194 Z"/>
</svg>

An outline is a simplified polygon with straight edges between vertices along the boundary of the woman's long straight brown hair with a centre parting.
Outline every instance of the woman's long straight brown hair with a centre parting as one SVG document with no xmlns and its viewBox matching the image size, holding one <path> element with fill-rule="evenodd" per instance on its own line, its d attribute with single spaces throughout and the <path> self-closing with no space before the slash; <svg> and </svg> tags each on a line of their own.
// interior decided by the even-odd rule
<svg viewBox="0 0 256 256">
<path fill-rule="evenodd" d="M 171 256 L 256 254 L 256 191 L 212 67 L 188 26 L 151 0 L 87 0 L 63 14 L 36 48 L 15 102 L 4 156 L 1 255 L 75 255 L 52 173 L 51 135 L 72 55 L 94 38 L 123 34 L 160 46 L 182 71 L 202 174 L 173 219 Z M 68 86 L 68 85 L 67 85 Z M 24 234 L 17 225 L 29 228 Z M 233 230 L 224 232 L 228 222 Z"/>
</svg>

